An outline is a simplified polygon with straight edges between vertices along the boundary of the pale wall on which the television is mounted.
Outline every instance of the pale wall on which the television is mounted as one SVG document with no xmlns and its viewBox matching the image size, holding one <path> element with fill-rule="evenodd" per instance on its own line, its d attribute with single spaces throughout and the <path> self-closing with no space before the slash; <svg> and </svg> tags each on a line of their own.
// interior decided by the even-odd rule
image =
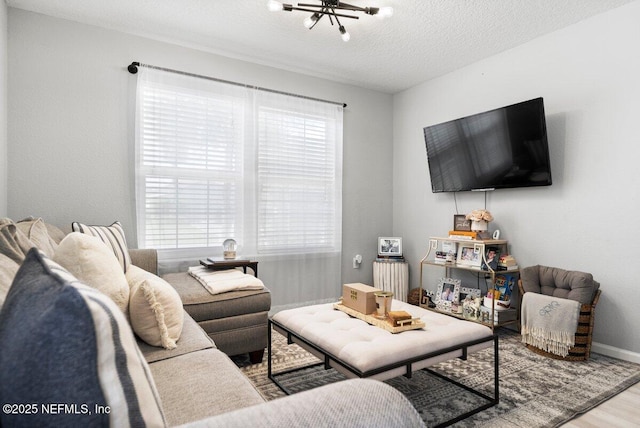
<svg viewBox="0 0 640 428">
<path fill-rule="evenodd" d="M 596 16 L 394 97 L 394 235 L 412 288 L 429 236 L 446 235 L 452 194 L 431 193 L 425 126 L 544 97 L 551 187 L 497 190 L 488 209 L 522 266 L 591 272 L 601 282 L 594 341 L 640 352 L 640 2 Z M 484 206 L 459 193 L 461 213 Z M 435 288 L 441 272 L 430 273 Z"/>
</svg>

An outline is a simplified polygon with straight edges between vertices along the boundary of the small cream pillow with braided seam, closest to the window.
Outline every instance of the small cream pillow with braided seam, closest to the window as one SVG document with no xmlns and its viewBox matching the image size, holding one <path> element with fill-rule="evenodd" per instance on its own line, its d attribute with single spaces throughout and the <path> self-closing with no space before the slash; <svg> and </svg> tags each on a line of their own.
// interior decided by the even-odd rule
<svg viewBox="0 0 640 428">
<path fill-rule="evenodd" d="M 135 265 L 129 266 L 125 276 L 133 331 L 149 345 L 175 348 L 184 318 L 178 292 L 164 279 Z"/>
</svg>

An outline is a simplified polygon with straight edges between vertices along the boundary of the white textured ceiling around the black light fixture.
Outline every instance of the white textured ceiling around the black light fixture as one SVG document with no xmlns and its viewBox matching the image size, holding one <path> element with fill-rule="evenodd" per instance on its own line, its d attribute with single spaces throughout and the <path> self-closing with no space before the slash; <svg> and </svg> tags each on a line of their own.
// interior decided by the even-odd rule
<svg viewBox="0 0 640 428">
<path fill-rule="evenodd" d="M 286 1 L 286 0 L 285 0 Z M 303 0 L 304 2 L 305 0 Z M 386 20 L 269 12 L 267 0 L 6 0 L 14 8 L 396 93 L 590 16 L 640 0 L 351 0 Z M 319 3 L 307 0 L 308 3 Z"/>
</svg>

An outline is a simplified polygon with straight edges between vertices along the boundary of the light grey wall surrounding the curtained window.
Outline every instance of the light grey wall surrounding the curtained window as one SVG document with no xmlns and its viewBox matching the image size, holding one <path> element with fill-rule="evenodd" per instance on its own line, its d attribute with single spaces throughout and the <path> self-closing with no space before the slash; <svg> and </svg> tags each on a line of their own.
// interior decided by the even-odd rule
<svg viewBox="0 0 640 428">
<path fill-rule="evenodd" d="M 392 97 L 17 9 L 9 9 L 9 216 L 123 223 L 135 245 L 132 61 L 343 101 L 342 282 L 372 280 L 391 233 Z M 356 253 L 363 268 L 352 268 Z M 268 273 L 267 266 L 259 269 Z M 262 276 L 262 275 L 261 275 Z M 273 290 L 274 304 L 291 290 Z M 339 294 L 341 284 L 331 287 Z"/>
</svg>

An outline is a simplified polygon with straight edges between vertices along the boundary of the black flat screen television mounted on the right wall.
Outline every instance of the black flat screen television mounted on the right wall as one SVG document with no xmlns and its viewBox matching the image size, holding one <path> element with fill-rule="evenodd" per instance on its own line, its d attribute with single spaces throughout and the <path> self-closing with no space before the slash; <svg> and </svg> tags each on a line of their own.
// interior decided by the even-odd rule
<svg viewBox="0 0 640 428">
<path fill-rule="evenodd" d="M 431 189 L 550 186 L 542 98 L 424 128 Z"/>
</svg>

